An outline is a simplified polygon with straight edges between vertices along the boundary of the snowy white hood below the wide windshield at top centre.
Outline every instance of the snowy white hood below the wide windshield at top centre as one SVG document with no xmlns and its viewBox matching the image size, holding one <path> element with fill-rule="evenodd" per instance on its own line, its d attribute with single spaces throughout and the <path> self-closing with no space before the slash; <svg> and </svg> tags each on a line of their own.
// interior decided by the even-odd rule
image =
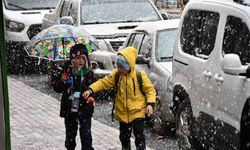
<svg viewBox="0 0 250 150">
<path fill-rule="evenodd" d="M 91 24 L 91 25 L 81 25 L 91 35 L 98 38 L 98 36 L 127 36 L 135 27 L 137 27 L 139 22 L 135 23 L 112 23 L 112 24 Z"/>
</svg>

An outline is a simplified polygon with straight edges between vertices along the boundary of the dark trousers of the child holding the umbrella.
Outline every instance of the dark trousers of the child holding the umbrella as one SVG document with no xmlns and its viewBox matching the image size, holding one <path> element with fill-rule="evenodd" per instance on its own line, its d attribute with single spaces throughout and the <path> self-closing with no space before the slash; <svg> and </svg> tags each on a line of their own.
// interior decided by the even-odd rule
<svg viewBox="0 0 250 150">
<path fill-rule="evenodd" d="M 67 150 L 74 150 L 76 147 L 78 124 L 80 124 L 82 150 L 94 150 L 92 147 L 91 117 L 83 118 L 69 115 L 65 117 L 64 124 L 66 128 L 65 147 Z"/>
</svg>

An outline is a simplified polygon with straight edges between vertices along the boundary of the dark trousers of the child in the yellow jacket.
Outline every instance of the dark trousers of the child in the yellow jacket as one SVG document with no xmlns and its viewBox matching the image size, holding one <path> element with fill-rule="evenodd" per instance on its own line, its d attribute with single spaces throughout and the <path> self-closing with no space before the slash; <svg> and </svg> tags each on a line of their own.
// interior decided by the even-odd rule
<svg viewBox="0 0 250 150">
<path fill-rule="evenodd" d="M 135 119 L 131 123 L 120 122 L 120 141 L 122 150 L 131 150 L 130 137 L 133 130 L 135 136 L 135 146 L 137 150 L 145 150 L 144 119 Z"/>
</svg>

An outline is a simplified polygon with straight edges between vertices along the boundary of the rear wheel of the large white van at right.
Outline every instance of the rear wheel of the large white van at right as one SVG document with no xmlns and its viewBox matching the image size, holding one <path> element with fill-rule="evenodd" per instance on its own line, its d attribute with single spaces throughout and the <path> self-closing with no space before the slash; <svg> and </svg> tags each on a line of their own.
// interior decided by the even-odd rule
<svg viewBox="0 0 250 150">
<path fill-rule="evenodd" d="M 176 114 L 176 134 L 179 137 L 178 145 L 180 150 L 191 150 L 193 149 L 192 139 L 192 110 L 189 103 L 180 103 L 177 114 Z"/>
</svg>

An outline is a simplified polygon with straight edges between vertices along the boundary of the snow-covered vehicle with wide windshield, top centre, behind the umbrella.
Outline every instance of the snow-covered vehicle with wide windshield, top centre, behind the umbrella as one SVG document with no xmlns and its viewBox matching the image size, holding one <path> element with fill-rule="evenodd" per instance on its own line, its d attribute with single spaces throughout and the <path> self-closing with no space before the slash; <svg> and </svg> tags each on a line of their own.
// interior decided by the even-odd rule
<svg viewBox="0 0 250 150">
<path fill-rule="evenodd" d="M 143 22 L 167 19 L 151 0 L 61 0 L 51 13 L 45 14 L 42 28 L 72 20 L 93 35 L 101 50 L 116 52 L 133 28 Z"/>
</svg>

